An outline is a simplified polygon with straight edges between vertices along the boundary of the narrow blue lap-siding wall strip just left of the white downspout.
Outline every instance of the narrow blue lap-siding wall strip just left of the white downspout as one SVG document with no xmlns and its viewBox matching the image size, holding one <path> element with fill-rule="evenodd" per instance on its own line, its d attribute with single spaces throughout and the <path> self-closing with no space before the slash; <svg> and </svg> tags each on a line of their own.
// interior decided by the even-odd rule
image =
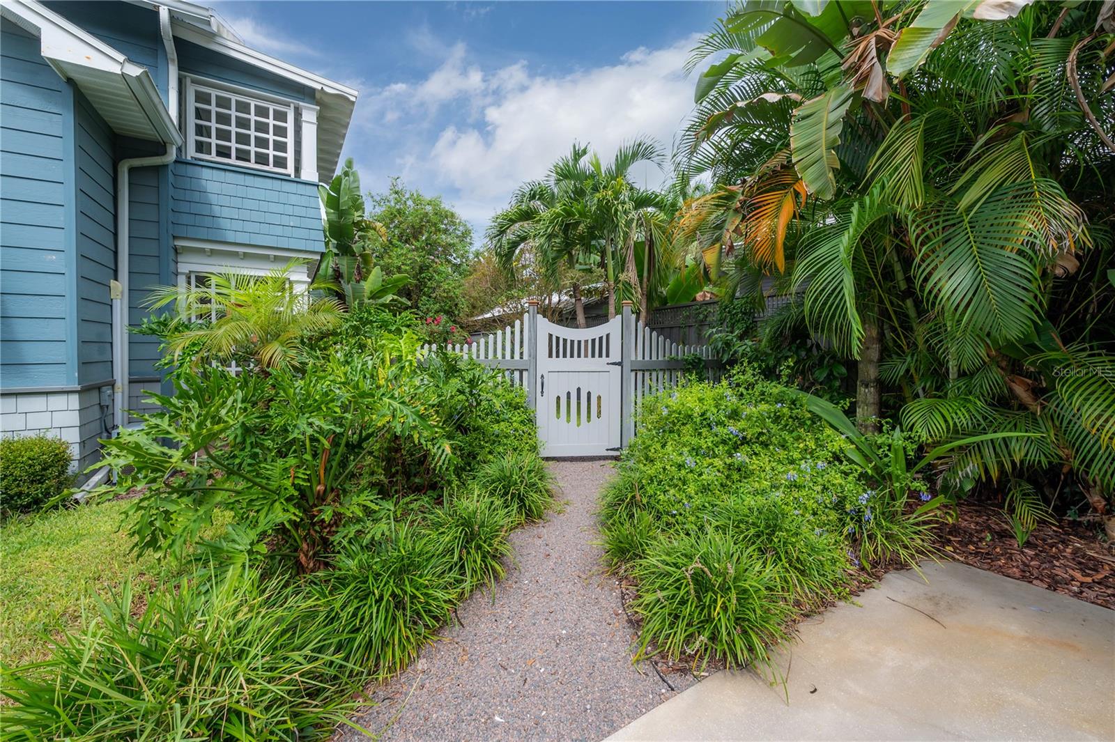
<svg viewBox="0 0 1115 742">
<path fill-rule="evenodd" d="M 77 359 L 78 383 L 113 378 L 116 193 L 113 131 L 77 94 Z"/>
</svg>

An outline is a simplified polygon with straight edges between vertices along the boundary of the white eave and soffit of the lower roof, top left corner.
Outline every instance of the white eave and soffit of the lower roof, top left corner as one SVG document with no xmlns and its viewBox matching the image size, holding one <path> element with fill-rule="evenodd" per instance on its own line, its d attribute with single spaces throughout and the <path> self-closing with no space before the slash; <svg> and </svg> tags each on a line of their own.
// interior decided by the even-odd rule
<svg viewBox="0 0 1115 742">
<path fill-rule="evenodd" d="M 146 67 L 35 0 L 6 0 L 0 13 L 39 37 L 42 58 L 62 79 L 74 81 L 114 131 L 182 144 Z"/>
</svg>

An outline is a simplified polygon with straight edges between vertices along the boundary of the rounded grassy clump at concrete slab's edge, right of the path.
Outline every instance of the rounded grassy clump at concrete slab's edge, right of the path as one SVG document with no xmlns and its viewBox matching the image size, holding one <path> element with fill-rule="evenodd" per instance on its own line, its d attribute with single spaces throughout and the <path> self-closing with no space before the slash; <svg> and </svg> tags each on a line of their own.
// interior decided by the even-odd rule
<svg viewBox="0 0 1115 742">
<path fill-rule="evenodd" d="M 632 608 L 642 617 L 640 654 L 655 643 L 673 658 L 765 665 L 767 646 L 786 636 L 788 606 L 775 568 L 727 535 L 662 539 L 632 572 L 639 582 Z"/>
</svg>

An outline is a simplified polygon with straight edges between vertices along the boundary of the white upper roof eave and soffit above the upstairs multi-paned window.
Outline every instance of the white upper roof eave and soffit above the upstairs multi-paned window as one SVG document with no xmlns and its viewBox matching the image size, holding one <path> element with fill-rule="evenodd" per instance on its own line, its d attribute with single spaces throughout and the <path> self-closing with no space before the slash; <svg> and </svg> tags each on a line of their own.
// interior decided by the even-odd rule
<svg viewBox="0 0 1115 742">
<path fill-rule="evenodd" d="M 293 80 L 314 90 L 318 111 L 318 172 L 323 179 L 337 172 L 341 147 L 348 134 L 358 91 L 353 88 L 295 67 L 252 49 L 212 8 L 184 0 L 130 0 L 144 8 L 165 6 L 171 11 L 174 36 L 192 41 L 272 75 Z"/>
</svg>

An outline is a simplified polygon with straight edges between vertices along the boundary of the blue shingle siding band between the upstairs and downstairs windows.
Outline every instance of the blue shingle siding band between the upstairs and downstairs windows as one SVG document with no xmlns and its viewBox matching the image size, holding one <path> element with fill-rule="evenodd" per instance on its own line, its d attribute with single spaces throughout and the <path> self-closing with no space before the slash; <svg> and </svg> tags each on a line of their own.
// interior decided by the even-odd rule
<svg viewBox="0 0 1115 742">
<path fill-rule="evenodd" d="M 171 168 L 171 226 L 175 237 L 324 250 L 316 183 L 200 160 Z"/>
</svg>

